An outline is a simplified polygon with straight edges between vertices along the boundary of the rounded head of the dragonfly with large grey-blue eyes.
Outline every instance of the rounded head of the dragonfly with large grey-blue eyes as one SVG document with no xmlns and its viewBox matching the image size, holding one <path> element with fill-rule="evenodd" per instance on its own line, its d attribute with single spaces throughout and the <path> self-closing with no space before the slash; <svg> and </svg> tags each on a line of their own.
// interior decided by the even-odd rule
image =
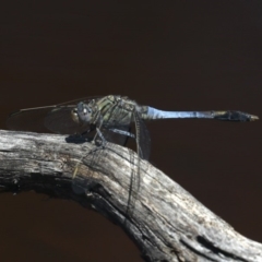
<svg viewBox="0 0 262 262">
<path fill-rule="evenodd" d="M 76 107 L 72 109 L 71 117 L 73 121 L 78 123 L 90 123 L 92 120 L 92 109 L 83 102 L 80 102 Z"/>
</svg>

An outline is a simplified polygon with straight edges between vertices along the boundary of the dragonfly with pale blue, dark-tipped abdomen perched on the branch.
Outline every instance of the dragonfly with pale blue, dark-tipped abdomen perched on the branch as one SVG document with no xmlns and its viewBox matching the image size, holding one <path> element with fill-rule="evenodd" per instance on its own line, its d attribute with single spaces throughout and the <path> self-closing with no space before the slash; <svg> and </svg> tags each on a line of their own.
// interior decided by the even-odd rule
<svg viewBox="0 0 262 262">
<path fill-rule="evenodd" d="M 254 121 L 259 117 L 237 110 L 209 111 L 164 111 L 120 95 L 85 97 L 63 104 L 21 109 L 11 114 L 7 124 L 11 130 L 39 131 L 43 126 L 60 134 L 93 134 L 92 142 L 104 147 L 108 142 L 127 145 L 129 139 L 135 142 L 138 163 L 132 174 L 129 204 L 134 206 L 139 190 L 140 159 L 148 160 L 150 133 L 146 120 L 156 119 L 215 119 L 223 121 Z M 94 159 L 95 162 L 95 159 Z M 85 191 L 83 181 L 78 181 L 78 168 L 73 174 L 73 184 Z M 134 196 L 132 196 L 132 194 Z M 132 200 L 133 198 L 133 200 Z M 128 205 L 129 206 L 129 205 Z"/>
</svg>

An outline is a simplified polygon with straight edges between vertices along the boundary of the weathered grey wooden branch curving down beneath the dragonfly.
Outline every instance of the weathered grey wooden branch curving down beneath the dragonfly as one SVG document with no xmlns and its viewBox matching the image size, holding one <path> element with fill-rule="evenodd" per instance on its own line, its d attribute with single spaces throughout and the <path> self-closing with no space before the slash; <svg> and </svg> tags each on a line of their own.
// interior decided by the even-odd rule
<svg viewBox="0 0 262 262">
<path fill-rule="evenodd" d="M 134 209 L 127 215 L 131 174 L 136 168 L 130 157 L 135 155 L 114 144 L 96 148 L 66 140 L 1 130 L 0 186 L 9 191 L 34 189 L 96 210 L 127 231 L 146 261 L 262 261 L 261 243 L 236 233 L 145 160 L 141 160 Z M 72 183 L 76 165 L 85 191 Z"/>
</svg>

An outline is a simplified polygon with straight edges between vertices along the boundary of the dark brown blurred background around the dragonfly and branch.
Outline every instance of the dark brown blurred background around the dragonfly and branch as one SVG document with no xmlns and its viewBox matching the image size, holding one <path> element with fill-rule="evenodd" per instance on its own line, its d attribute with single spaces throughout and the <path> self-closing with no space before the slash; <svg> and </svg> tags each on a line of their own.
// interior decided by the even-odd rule
<svg viewBox="0 0 262 262">
<path fill-rule="evenodd" d="M 167 110 L 262 117 L 261 1 L 1 3 L 0 120 L 120 94 Z M 148 123 L 151 162 L 237 231 L 262 241 L 262 122 Z M 0 195 L 1 261 L 142 261 L 95 212 L 35 192 Z"/>
</svg>

